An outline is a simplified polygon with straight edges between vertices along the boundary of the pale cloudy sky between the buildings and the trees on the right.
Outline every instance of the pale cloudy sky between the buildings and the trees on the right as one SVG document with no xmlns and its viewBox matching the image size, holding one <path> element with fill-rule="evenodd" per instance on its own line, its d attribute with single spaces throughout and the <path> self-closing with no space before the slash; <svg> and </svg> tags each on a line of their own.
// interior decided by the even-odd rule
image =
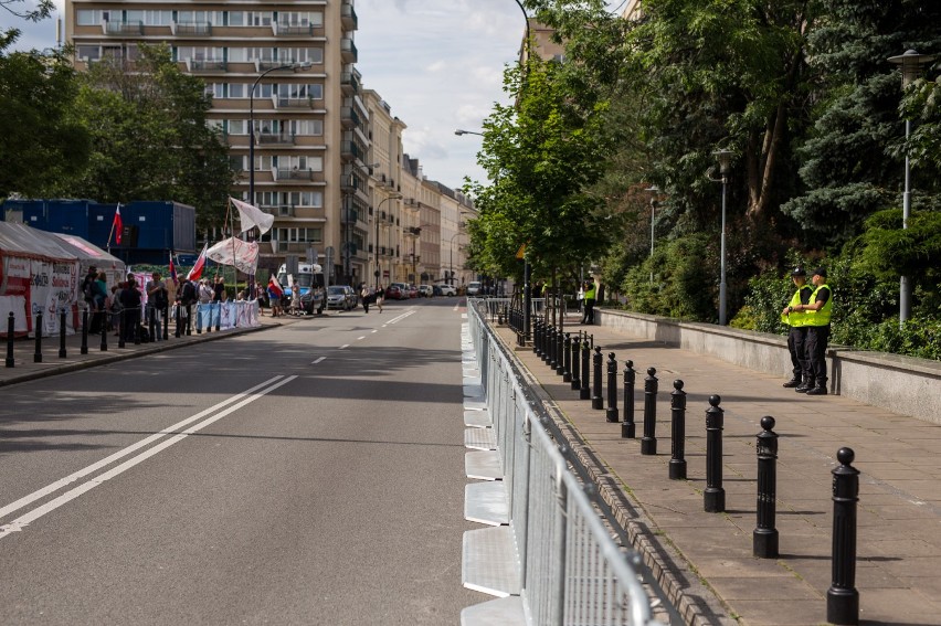
<svg viewBox="0 0 941 626">
<path fill-rule="evenodd" d="M 61 10 L 63 1 L 56 6 Z M 526 28 L 519 6 L 515 0 L 356 0 L 356 12 L 357 68 L 363 86 L 408 126 L 405 152 L 419 159 L 427 178 L 453 189 L 464 177 L 486 180 L 476 159 L 480 137 L 454 131 L 479 131 L 494 104 L 509 102 L 503 72 L 519 57 Z M 14 25 L 11 21 L 0 14 L 0 28 Z M 15 26 L 23 31 L 20 50 L 55 45 L 55 20 L 17 20 Z"/>
</svg>

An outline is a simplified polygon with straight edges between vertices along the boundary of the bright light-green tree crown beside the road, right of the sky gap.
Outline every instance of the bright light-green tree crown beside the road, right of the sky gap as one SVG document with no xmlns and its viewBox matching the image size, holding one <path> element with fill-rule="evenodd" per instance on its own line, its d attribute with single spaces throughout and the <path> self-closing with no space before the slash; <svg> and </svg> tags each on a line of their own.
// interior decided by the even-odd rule
<svg viewBox="0 0 941 626">
<path fill-rule="evenodd" d="M 497 105 L 484 124 L 478 159 L 489 185 L 472 185 L 479 217 L 472 265 L 511 268 L 526 244 L 542 275 L 574 267 L 609 243 L 602 202 L 588 192 L 604 172 L 606 103 L 567 97 L 562 66 L 531 59 L 506 71 L 514 106 Z"/>
</svg>

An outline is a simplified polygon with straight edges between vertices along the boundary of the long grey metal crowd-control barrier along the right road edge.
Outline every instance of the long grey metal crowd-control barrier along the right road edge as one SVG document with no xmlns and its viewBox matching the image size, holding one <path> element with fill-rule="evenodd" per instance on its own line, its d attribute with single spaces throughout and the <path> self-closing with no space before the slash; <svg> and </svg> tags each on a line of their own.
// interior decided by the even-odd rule
<svg viewBox="0 0 941 626">
<path fill-rule="evenodd" d="M 651 602 L 625 552 L 569 469 L 516 365 L 472 300 L 469 332 L 504 474 L 527 623 L 647 625 Z"/>
</svg>

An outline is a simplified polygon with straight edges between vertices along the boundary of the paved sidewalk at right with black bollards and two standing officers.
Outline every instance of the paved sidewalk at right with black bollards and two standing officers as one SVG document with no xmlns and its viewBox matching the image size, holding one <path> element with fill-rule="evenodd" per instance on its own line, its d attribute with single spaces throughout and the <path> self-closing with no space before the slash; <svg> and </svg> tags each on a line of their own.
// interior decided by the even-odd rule
<svg viewBox="0 0 941 626">
<path fill-rule="evenodd" d="M 579 400 L 531 348 L 516 347 L 512 331 L 501 327 L 498 335 L 541 384 L 543 402 L 584 439 L 589 449 L 582 458 L 599 471 L 602 494 L 687 623 L 826 623 L 831 470 L 844 446 L 856 453 L 853 466 L 861 473 L 856 562 L 860 623 L 941 623 L 941 427 L 840 396 L 807 397 L 782 388 L 783 379 L 603 327 L 565 330 L 593 333 L 605 363 L 607 353 L 615 353 L 622 421 L 624 362 L 634 361 L 635 439 L 622 438 L 621 424 L 607 423 L 605 411 Z M 657 454 L 642 456 L 644 379 L 651 367 L 659 380 Z M 687 480 L 668 478 L 670 393 L 677 379 L 687 393 Z M 712 394 L 721 396 L 725 410 L 722 513 L 704 511 L 706 410 Z M 603 397 L 606 407 L 606 374 Z M 752 556 L 755 435 L 765 415 L 775 418 L 779 435 L 779 559 Z"/>
</svg>

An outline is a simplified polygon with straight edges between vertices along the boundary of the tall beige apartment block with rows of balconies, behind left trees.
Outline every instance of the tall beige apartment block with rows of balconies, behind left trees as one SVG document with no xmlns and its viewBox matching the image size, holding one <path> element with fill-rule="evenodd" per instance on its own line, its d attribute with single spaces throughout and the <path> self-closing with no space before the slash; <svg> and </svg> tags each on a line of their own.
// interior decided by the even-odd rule
<svg viewBox="0 0 941 626">
<path fill-rule="evenodd" d="M 372 189 L 356 30 L 352 0 L 65 2 L 76 67 L 133 64 L 140 43 L 167 43 L 205 81 L 211 123 L 243 172 L 237 193 L 275 215 L 261 266 L 313 254 L 348 283 L 369 262 Z"/>
</svg>

